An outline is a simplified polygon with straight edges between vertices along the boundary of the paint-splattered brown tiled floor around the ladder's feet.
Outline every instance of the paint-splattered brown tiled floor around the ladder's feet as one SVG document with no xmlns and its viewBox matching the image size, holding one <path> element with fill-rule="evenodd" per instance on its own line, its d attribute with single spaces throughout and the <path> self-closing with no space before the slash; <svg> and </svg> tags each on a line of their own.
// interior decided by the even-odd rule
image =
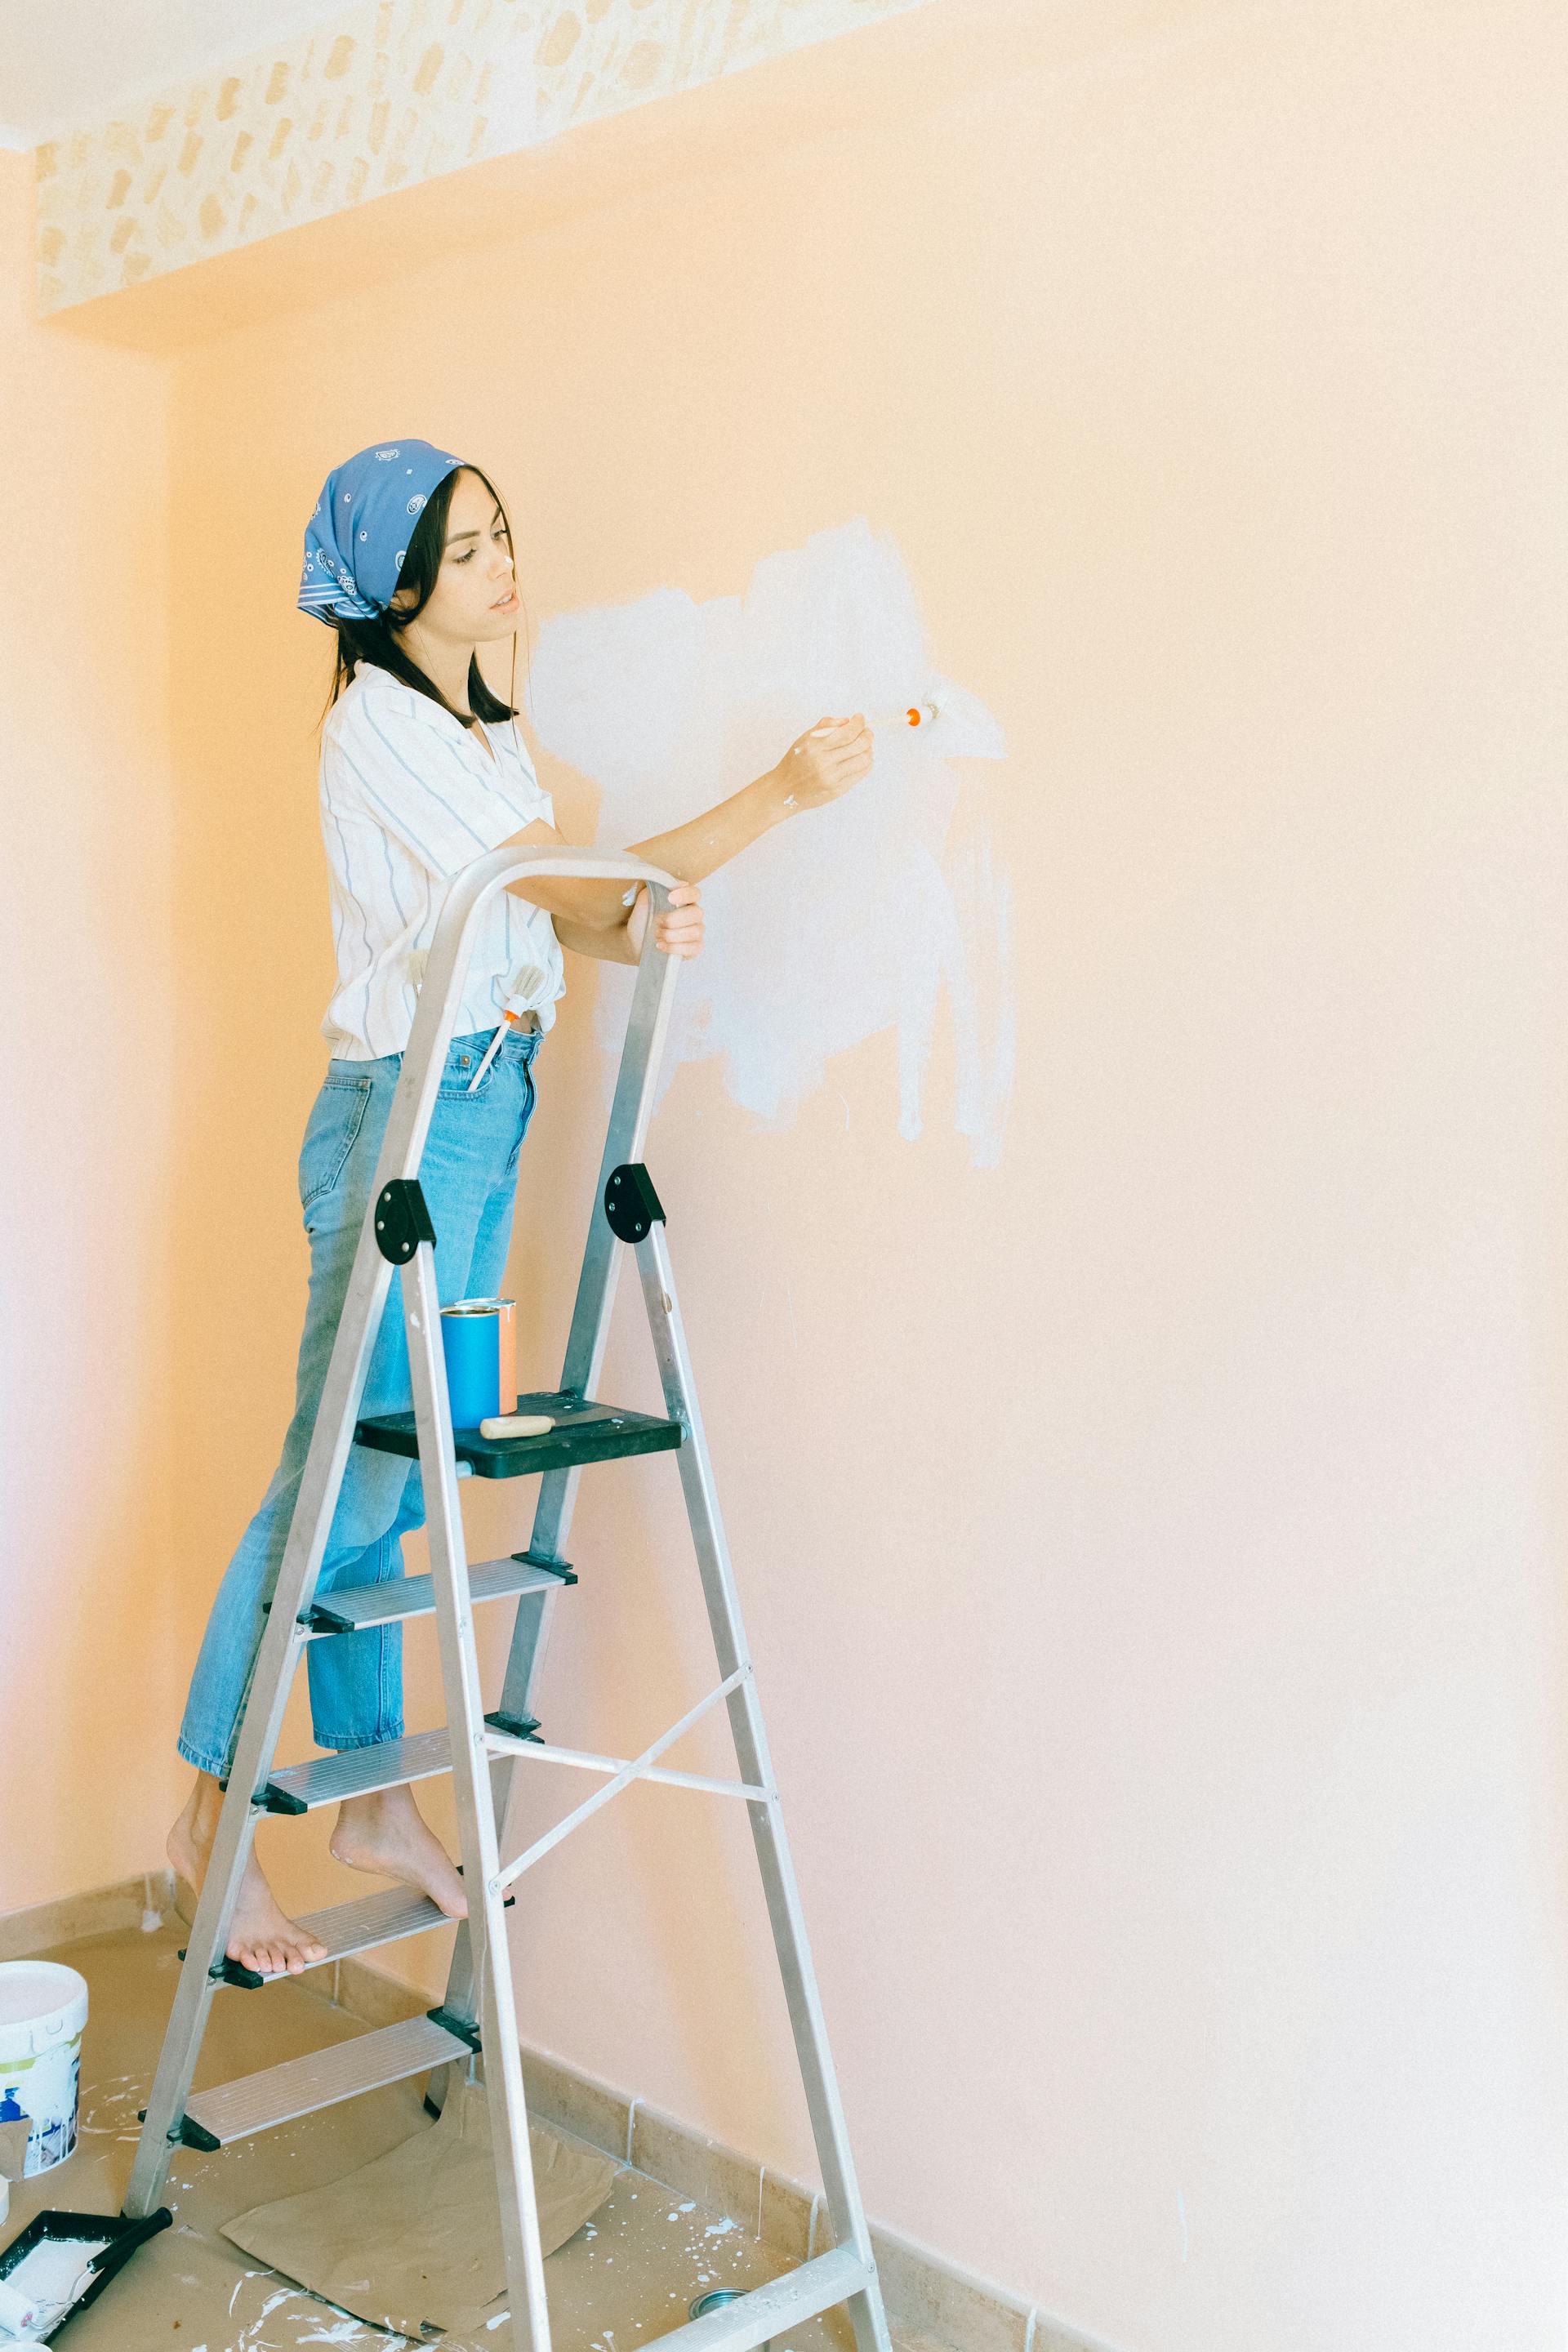
<svg viewBox="0 0 1568 2352">
<path fill-rule="evenodd" d="M 179 1924 L 68 1943 L 45 1959 L 80 1969 L 89 1985 L 82 2044 L 82 2110 L 75 2154 L 12 2187 L 0 2244 L 40 2206 L 115 2213 L 136 2145 L 162 2025 L 179 1976 Z M 362 2025 L 306 1992 L 266 1985 L 219 1992 L 197 2067 L 202 2084 L 341 2042 Z M 404 2343 L 259 2270 L 221 2237 L 221 2223 L 254 2204 L 336 2180 L 428 2124 L 423 2077 L 327 2107 L 299 2124 L 240 2140 L 216 2154 L 181 2150 L 165 2201 L 174 2227 L 150 2239 L 99 2303 L 71 2321 L 63 2352 L 296 2352 L 334 2345 L 393 2352 Z M 607 2204 L 545 2263 L 550 2326 L 559 2352 L 632 2352 L 686 2319 L 693 2296 L 757 2286 L 792 2260 L 726 2216 L 625 2171 Z M 614 2272 L 614 2277 L 611 2277 Z M 442 2336 L 447 2352 L 510 2352 L 510 2326 Z M 844 2352 L 842 2314 L 790 2328 L 773 2352 Z"/>
</svg>

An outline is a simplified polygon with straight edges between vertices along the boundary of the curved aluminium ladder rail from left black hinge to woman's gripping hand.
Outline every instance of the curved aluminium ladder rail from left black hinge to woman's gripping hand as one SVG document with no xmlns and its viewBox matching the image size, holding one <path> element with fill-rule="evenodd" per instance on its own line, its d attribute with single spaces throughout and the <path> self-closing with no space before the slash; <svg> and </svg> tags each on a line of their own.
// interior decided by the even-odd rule
<svg viewBox="0 0 1568 2352">
<path fill-rule="evenodd" d="M 414 1028 L 409 1030 L 409 1044 L 402 1056 L 397 1094 L 393 1096 L 393 1110 L 381 1145 L 381 1162 L 376 1167 L 376 1195 L 381 1192 L 381 1185 L 390 1183 L 395 1176 L 418 1176 L 425 1129 L 430 1127 L 430 1112 L 435 1110 L 435 1089 L 440 1087 L 447 1044 L 451 1040 L 451 1023 L 456 1021 L 458 1002 L 463 997 L 463 981 L 468 978 L 480 915 L 496 891 L 508 882 L 515 882 L 520 875 L 536 875 L 541 882 L 646 882 L 654 898 L 654 915 L 663 913 L 670 903 L 670 891 L 677 889 L 677 877 L 663 873 L 658 866 L 646 866 L 642 858 L 630 856 L 609 856 L 595 849 L 501 847 L 487 851 L 487 856 L 475 858 L 473 866 L 463 866 L 463 870 L 454 875 L 451 887 L 447 889 L 447 903 L 442 906 L 435 924 L 435 938 L 430 941 L 430 955 L 425 960 L 425 978 L 414 1011 Z M 651 924 L 644 943 L 644 957 L 658 957 Z"/>
</svg>

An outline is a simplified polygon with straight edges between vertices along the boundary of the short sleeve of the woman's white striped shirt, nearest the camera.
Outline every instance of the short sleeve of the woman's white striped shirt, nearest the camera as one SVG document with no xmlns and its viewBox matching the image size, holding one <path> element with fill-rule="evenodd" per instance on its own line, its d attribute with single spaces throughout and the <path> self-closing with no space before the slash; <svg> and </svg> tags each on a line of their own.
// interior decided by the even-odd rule
<svg viewBox="0 0 1568 2352">
<path fill-rule="evenodd" d="M 341 710 L 324 739 L 341 776 L 324 764 L 327 790 L 362 797 L 376 823 L 440 880 L 451 880 L 489 849 L 522 833 L 548 809 L 531 774 L 491 762 L 458 741 L 458 720 L 411 687 L 376 687 Z M 494 764 L 482 776 L 480 762 Z"/>
</svg>

